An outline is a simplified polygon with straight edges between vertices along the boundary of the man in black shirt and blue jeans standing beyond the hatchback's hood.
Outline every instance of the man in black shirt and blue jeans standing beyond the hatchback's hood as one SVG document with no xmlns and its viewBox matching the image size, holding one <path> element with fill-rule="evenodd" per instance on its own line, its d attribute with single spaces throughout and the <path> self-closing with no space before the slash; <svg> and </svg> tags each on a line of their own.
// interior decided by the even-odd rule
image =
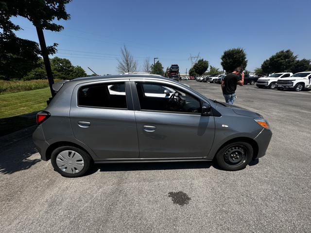
<svg viewBox="0 0 311 233">
<path fill-rule="evenodd" d="M 244 84 L 244 73 L 241 67 L 236 68 L 231 74 L 226 75 L 222 81 L 222 90 L 226 103 L 233 104 L 237 84 L 240 86 Z"/>
</svg>

